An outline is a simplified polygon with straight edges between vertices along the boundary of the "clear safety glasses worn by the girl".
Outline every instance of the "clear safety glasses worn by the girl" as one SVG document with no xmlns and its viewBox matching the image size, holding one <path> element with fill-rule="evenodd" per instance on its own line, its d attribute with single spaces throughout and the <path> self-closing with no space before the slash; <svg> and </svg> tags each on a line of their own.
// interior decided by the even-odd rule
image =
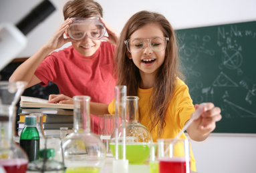
<svg viewBox="0 0 256 173">
<path fill-rule="evenodd" d="M 168 37 L 153 37 L 152 39 L 128 39 L 124 41 L 130 53 L 138 53 L 145 47 L 145 41 L 148 41 L 152 51 L 163 51 L 166 48 Z"/>
</svg>

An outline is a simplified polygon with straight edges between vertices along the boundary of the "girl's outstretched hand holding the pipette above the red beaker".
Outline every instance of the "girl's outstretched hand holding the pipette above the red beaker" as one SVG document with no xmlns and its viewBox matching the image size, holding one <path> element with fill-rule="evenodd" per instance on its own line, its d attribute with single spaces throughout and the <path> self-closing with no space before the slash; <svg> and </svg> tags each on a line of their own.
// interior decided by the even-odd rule
<svg viewBox="0 0 256 173">
<path fill-rule="evenodd" d="M 198 107 L 199 104 L 195 104 L 195 108 Z M 186 128 L 186 132 L 192 140 L 203 141 L 215 129 L 216 122 L 219 120 L 221 120 L 221 109 L 215 107 L 212 102 L 207 102 L 201 116 Z"/>
</svg>

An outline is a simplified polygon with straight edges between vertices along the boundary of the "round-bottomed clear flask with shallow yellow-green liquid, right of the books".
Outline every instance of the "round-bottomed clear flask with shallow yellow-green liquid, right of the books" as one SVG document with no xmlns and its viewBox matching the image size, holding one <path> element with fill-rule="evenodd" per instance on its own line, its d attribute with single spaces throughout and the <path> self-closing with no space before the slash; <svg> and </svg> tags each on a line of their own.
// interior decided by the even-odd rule
<svg viewBox="0 0 256 173">
<path fill-rule="evenodd" d="M 74 96 L 74 132 L 62 140 L 66 173 L 100 172 L 106 149 L 90 131 L 90 96 Z"/>
</svg>

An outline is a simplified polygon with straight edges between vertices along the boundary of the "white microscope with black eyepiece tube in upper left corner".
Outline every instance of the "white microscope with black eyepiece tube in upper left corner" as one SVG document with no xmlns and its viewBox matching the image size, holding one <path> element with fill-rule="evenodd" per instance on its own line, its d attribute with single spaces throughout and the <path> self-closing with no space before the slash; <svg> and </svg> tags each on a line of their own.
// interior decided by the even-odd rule
<svg viewBox="0 0 256 173">
<path fill-rule="evenodd" d="M 3 70 L 26 47 L 25 35 L 47 18 L 55 7 L 50 1 L 43 0 L 16 25 L 0 24 L 0 71 Z"/>
</svg>

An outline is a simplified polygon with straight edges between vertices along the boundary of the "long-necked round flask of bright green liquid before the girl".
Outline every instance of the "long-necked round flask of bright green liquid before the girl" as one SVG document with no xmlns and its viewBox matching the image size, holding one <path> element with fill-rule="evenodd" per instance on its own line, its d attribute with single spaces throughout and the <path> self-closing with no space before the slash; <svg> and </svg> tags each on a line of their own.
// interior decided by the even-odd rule
<svg viewBox="0 0 256 173">
<path fill-rule="evenodd" d="M 138 96 L 126 97 L 128 116 L 128 123 L 126 124 L 126 159 L 129 160 L 129 164 L 142 164 L 149 157 L 150 142 L 153 141 L 150 131 L 138 121 L 138 100 Z M 122 125 L 120 128 L 122 128 Z M 113 132 L 110 142 L 114 142 L 115 136 L 116 134 Z"/>
</svg>

